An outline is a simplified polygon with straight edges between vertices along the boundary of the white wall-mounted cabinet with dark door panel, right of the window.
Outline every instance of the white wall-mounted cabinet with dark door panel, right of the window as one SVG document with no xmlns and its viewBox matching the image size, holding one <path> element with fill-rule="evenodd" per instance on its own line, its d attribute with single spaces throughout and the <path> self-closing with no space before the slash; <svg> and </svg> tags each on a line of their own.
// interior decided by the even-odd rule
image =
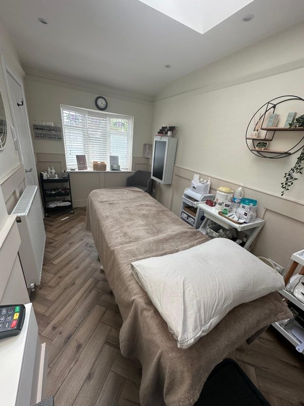
<svg viewBox="0 0 304 406">
<path fill-rule="evenodd" d="M 151 178 L 164 185 L 172 182 L 176 138 L 154 137 Z"/>
</svg>

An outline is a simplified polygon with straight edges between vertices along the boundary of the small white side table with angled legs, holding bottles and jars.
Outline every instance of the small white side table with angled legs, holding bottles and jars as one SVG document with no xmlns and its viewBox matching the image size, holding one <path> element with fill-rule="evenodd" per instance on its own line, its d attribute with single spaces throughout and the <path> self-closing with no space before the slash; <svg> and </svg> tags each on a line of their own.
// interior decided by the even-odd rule
<svg viewBox="0 0 304 406">
<path fill-rule="evenodd" d="M 244 246 L 245 250 L 248 250 L 250 248 L 253 240 L 265 223 L 265 220 L 256 218 L 250 223 L 236 224 L 226 219 L 225 217 L 220 216 L 214 207 L 206 205 L 205 202 L 198 203 L 197 206 L 202 209 L 205 214 L 205 220 L 201 224 L 199 231 L 201 231 L 203 234 L 206 234 L 208 220 L 212 220 L 216 224 L 219 224 L 226 229 L 234 228 L 238 231 L 244 231 L 248 235 L 248 240 Z"/>
</svg>

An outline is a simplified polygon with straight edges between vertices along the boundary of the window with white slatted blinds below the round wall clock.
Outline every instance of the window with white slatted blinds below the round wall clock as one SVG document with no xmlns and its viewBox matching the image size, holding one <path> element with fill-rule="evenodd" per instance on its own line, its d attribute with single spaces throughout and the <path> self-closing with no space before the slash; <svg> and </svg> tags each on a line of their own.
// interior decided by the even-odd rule
<svg viewBox="0 0 304 406">
<path fill-rule="evenodd" d="M 131 170 L 133 117 L 61 105 L 67 168 L 76 168 L 76 155 L 86 155 L 87 165 L 119 156 L 121 170 Z"/>
</svg>

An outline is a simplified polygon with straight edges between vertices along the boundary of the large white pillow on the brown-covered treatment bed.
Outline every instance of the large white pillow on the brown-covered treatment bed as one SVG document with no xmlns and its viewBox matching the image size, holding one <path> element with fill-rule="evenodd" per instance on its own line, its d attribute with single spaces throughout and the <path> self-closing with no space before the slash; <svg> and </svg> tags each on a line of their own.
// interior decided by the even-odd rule
<svg viewBox="0 0 304 406">
<path fill-rule="evenodd" d="M 179 348 L 193 345 L 239 304 L 285 287 L 276 270 L 223 238 L 131 265 Z"/>
</svg>

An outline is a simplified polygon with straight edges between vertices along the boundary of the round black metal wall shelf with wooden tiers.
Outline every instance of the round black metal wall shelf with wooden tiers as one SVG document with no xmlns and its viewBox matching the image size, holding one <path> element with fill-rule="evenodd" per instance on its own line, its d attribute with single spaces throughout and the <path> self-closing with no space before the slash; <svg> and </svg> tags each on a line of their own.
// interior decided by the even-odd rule
<svg viewBox="0 0 304 406">
<path fill-rule="evenodd" d="M 290 100 L 298 100 L 298 101 L 303 101 L 304 99 L 299 96 L 293 96 L 293 95 L 286 95 L 286 96 L 280 96 L 280 97 L 275 97 L 271 100 L 269 100 L 267 103 L 265 103 L 263 106 L 261 106 L 251 117 L 251 120 L 249 121 L 249 124 L 246 129 L 246 144 L 250 152 L 252 154 L 261 157 L 261 158 L 268 158 L 268 159 L 279 159 L 279 158 L 285 158 L 286 156 L 295 154 L 296 152 L 300 151 L 304 147 L 304 127 L 297 127 L 297 128 L 285 128 L 285 127 L 266 127 L 266 122 L 264 123 L 265 116 L 267 116 L 268 113 L 274 113 L 276 110 L 276 107 L 282 103 L 286 103 L 287 101 Z M 304 109 L 303 109 L 304 110 Z M 252 122 L 254 121 L 254 118 L 256 115 L 259 115 L 262 120 L 262 125 L 261 125 L 261 130 L 265 131 L 265 136 L 263 138 L 252 138 L 250 137 L 250 134 L 252 130 L 249 131 L 249 128 L 252 125 Z M 271 150 L 271 149 L 264 149 L 264 150 L 259 150 L 257 149 L 256 142 L 268 142 L 270 143 L 273 141 L 275 137 L 275 133 L 277 131 L 284 131 L 284 132 L 293 132 L 295 131 L 296 133 L 299 133 L 299 141 L 291 148 L 289 148 L 286 151 L 278 151 L 278 150 Z"/>
</svg>

